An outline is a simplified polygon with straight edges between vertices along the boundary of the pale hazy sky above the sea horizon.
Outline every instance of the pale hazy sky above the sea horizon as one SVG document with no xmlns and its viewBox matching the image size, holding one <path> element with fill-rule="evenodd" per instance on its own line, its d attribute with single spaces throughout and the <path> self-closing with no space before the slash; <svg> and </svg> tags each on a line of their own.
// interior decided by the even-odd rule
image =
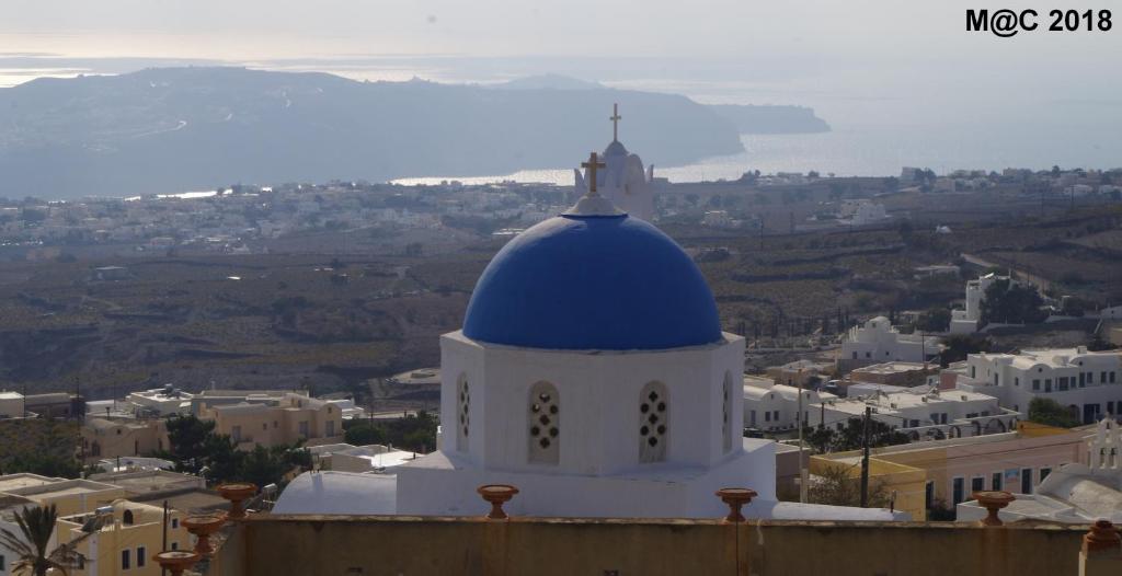
<svg viewBox="0 0 1122 576">
<path fill-rule="evenodd" d="M 1022 4 L 1022 2 L 1017 2 Z M 1085 2 L 1030 2 L 1046 10 Z M 983 61 L 1091 57 L 1122 46 L 1113 32 L 1031 34 L 1001 40 L 964 31 L 976 0 L 4 0 L 0 32 L 101 37 L 92 52 L 163 55 L 298 55 L 347 47 L 362 53 L 494 55 L 624 54 L 728 56 L 765 52 L 776 59 L 819 57 Z M 1111 7 L 1116 2 L 1087 3 Z M 1122 15 L 1120 15 L 1122 16 Z M 119 44 L 175 35 L 197 44 Z M 210 44 L 217 43 L 217 44 Z M 102 44 L 102 45 L 96 45 Z M 174 53 L 174 54 L 173 54 Z"/>
</svg>

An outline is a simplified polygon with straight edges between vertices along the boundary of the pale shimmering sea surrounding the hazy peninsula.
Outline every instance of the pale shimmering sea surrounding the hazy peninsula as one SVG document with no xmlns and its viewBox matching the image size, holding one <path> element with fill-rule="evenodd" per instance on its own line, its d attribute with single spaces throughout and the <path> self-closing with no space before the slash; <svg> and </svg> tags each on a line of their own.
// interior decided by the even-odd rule
<svg viewBox="0 0 1122 576">
<path fill-rule="evenodd" d="M 0 35 L 0 39 L 3 38 Z M 857 90 L 845 87 L 845 83 L 837 84 L 836 90 L 827 90 L 821 85 L 799 83 L 764 85 L 719 71 L 703 78 L 657 76 L 650 71 L 628 75 L 620 72 L 628 63 L 609 64 L 600 68 L 601 77 L 597 78 L 608 87 L 684 94 L 703 103 L 807 105 L 831 127 L 829 132 L 821 133 L 742 134 L 742 152 L 682 166 L 663 166 L 657 158 L 644 156 L 643 150 L 632 150 L 643 157 L 644 162 L 655 165 L 655 176 L 670 182 L 733 180 L 749 170 L 895 176 L 907 166 L 930 168 L 938 174 L 957 169 L 1122 167 L 1122 100 L 1102 92 L 1089 95 L 1080 92 L 1072 96 L 1066 90 L 1056 94 L 1024 90 L 1011 99 L 994 91 L 984 96 L 980 91 L 964 91 L 953 84 L 939 93 L 914 93 L 904 89 Z M 504 62 L 503 72 L 495 72 L 500 66 L 494 62 L 429 57 L 191 61 L 119 56 L 77 58 L 0 52 L 0 87 L 39 76 L 117 74 L 160 65 L 247 65 L 291 72 L 328 72 L 355 80 L 421 77 L 476 84 L 553 72 L 544 68 L 540 61 Z M 626 143 L 626 112 L 624 118 L 620 140 Z M 595 147 L 596 142 L 590 146 Z M 572 166 L 555 166 L 513 174 L 432 174 L 394 182 L 439 184 L 444 180 L 571 185 L 573 173 Z"/>
</svg>

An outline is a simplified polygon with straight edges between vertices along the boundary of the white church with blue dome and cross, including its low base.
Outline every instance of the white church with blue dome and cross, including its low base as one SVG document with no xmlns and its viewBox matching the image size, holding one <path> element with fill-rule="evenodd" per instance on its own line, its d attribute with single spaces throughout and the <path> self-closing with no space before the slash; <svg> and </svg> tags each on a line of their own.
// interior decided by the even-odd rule
<svg viewBox="0 0 1122 576">
<path fill-rule="evenodd" d="M 590 155 L 583 197 L 507 243 L 441 337 L 439 449 L 305 473 L 274 513 L 477 515 L 478 486 L 513 484 L 516 515 L 717 518 L 730 486 L 758 493 L 751 518 L 901 518 L 776 502 L 775 443 L 742 437 L 744 338 L 690 257 L 599 193 L 614 157 Z"/>
</svg>

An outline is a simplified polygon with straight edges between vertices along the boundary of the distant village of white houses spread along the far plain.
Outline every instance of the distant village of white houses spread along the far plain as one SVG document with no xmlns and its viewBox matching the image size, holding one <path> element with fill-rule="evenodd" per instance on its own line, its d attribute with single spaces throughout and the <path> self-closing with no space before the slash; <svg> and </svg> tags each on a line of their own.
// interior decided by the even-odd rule
<svg viewBox="0 0 1122 576">
<path fill-rule="evenodd" d="M 790 230 L 883 225 L 892 219 L 877 197 L 884 194 L 982 192 L 1014 187 L 1028 199 L 1041 202 L 1122 202 L 1122 170 L 1005 169 L 1002 173 L 955 170 L 936 175 L 905 167 L 899 177 L 836 178 L 834 175 L 745 173 L 739 180 L 672 185 L 651 177 L 654 219 L 690 222 L 715 229 L 766 229 L 754 214 L 760 206 L 698 202 L 698 191 L 718 192 L 732 185 L 771 193 L 784 204 L 798 201 L 784 191 L 818 184 L 830 186 L 835 201 L 820 206 Z M 573 199 L 572 188 L 553 184 L 504 182 L 436 185 L 332 182 L 322 185 L 233 185 L 215 191 L 131 198 L 86 198 L 46 202 L 35 198 L 0 201 L 0 258 L 50 259 L 68 248 L 112 245 L 118 256 L 129 251 L 166 253 L 174 250 L 247 254 L 266 251 L 267 241 L 310 231 L 420 230 L 473 227 L 481 234 L 515 234 L 562 212 Z M 785 223 L 784 223 L 785 224 Z M 788 226 L 775 226 L 788 231 Z M 766 231 L 766 230 L 765 230 Z M 950 233 L 949 226 L 942 232 Z M 436 232 L 439 234 L 439 232 Z M 121 245 L 128 250 L 119 250 Z M 110 272 L 112 273 L 112 272 Z"/>
</svg>

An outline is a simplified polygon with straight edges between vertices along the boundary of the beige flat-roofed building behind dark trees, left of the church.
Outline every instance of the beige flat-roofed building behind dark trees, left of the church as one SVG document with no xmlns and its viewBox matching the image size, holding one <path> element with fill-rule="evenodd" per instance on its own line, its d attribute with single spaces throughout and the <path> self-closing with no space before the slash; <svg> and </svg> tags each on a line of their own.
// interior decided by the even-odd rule
<svg viewBox="0 0 1122 576">
<path fill-rule="evenodd" d="M 214 431 L 229 435 L 239 449 L 305 442 L 307 445 L 340 443 L 343 438 L 342 410 L 315 398 L 285 393 L 274 403 L 214 406 L 200 411 L 214 420 Z"/>
</svg>

